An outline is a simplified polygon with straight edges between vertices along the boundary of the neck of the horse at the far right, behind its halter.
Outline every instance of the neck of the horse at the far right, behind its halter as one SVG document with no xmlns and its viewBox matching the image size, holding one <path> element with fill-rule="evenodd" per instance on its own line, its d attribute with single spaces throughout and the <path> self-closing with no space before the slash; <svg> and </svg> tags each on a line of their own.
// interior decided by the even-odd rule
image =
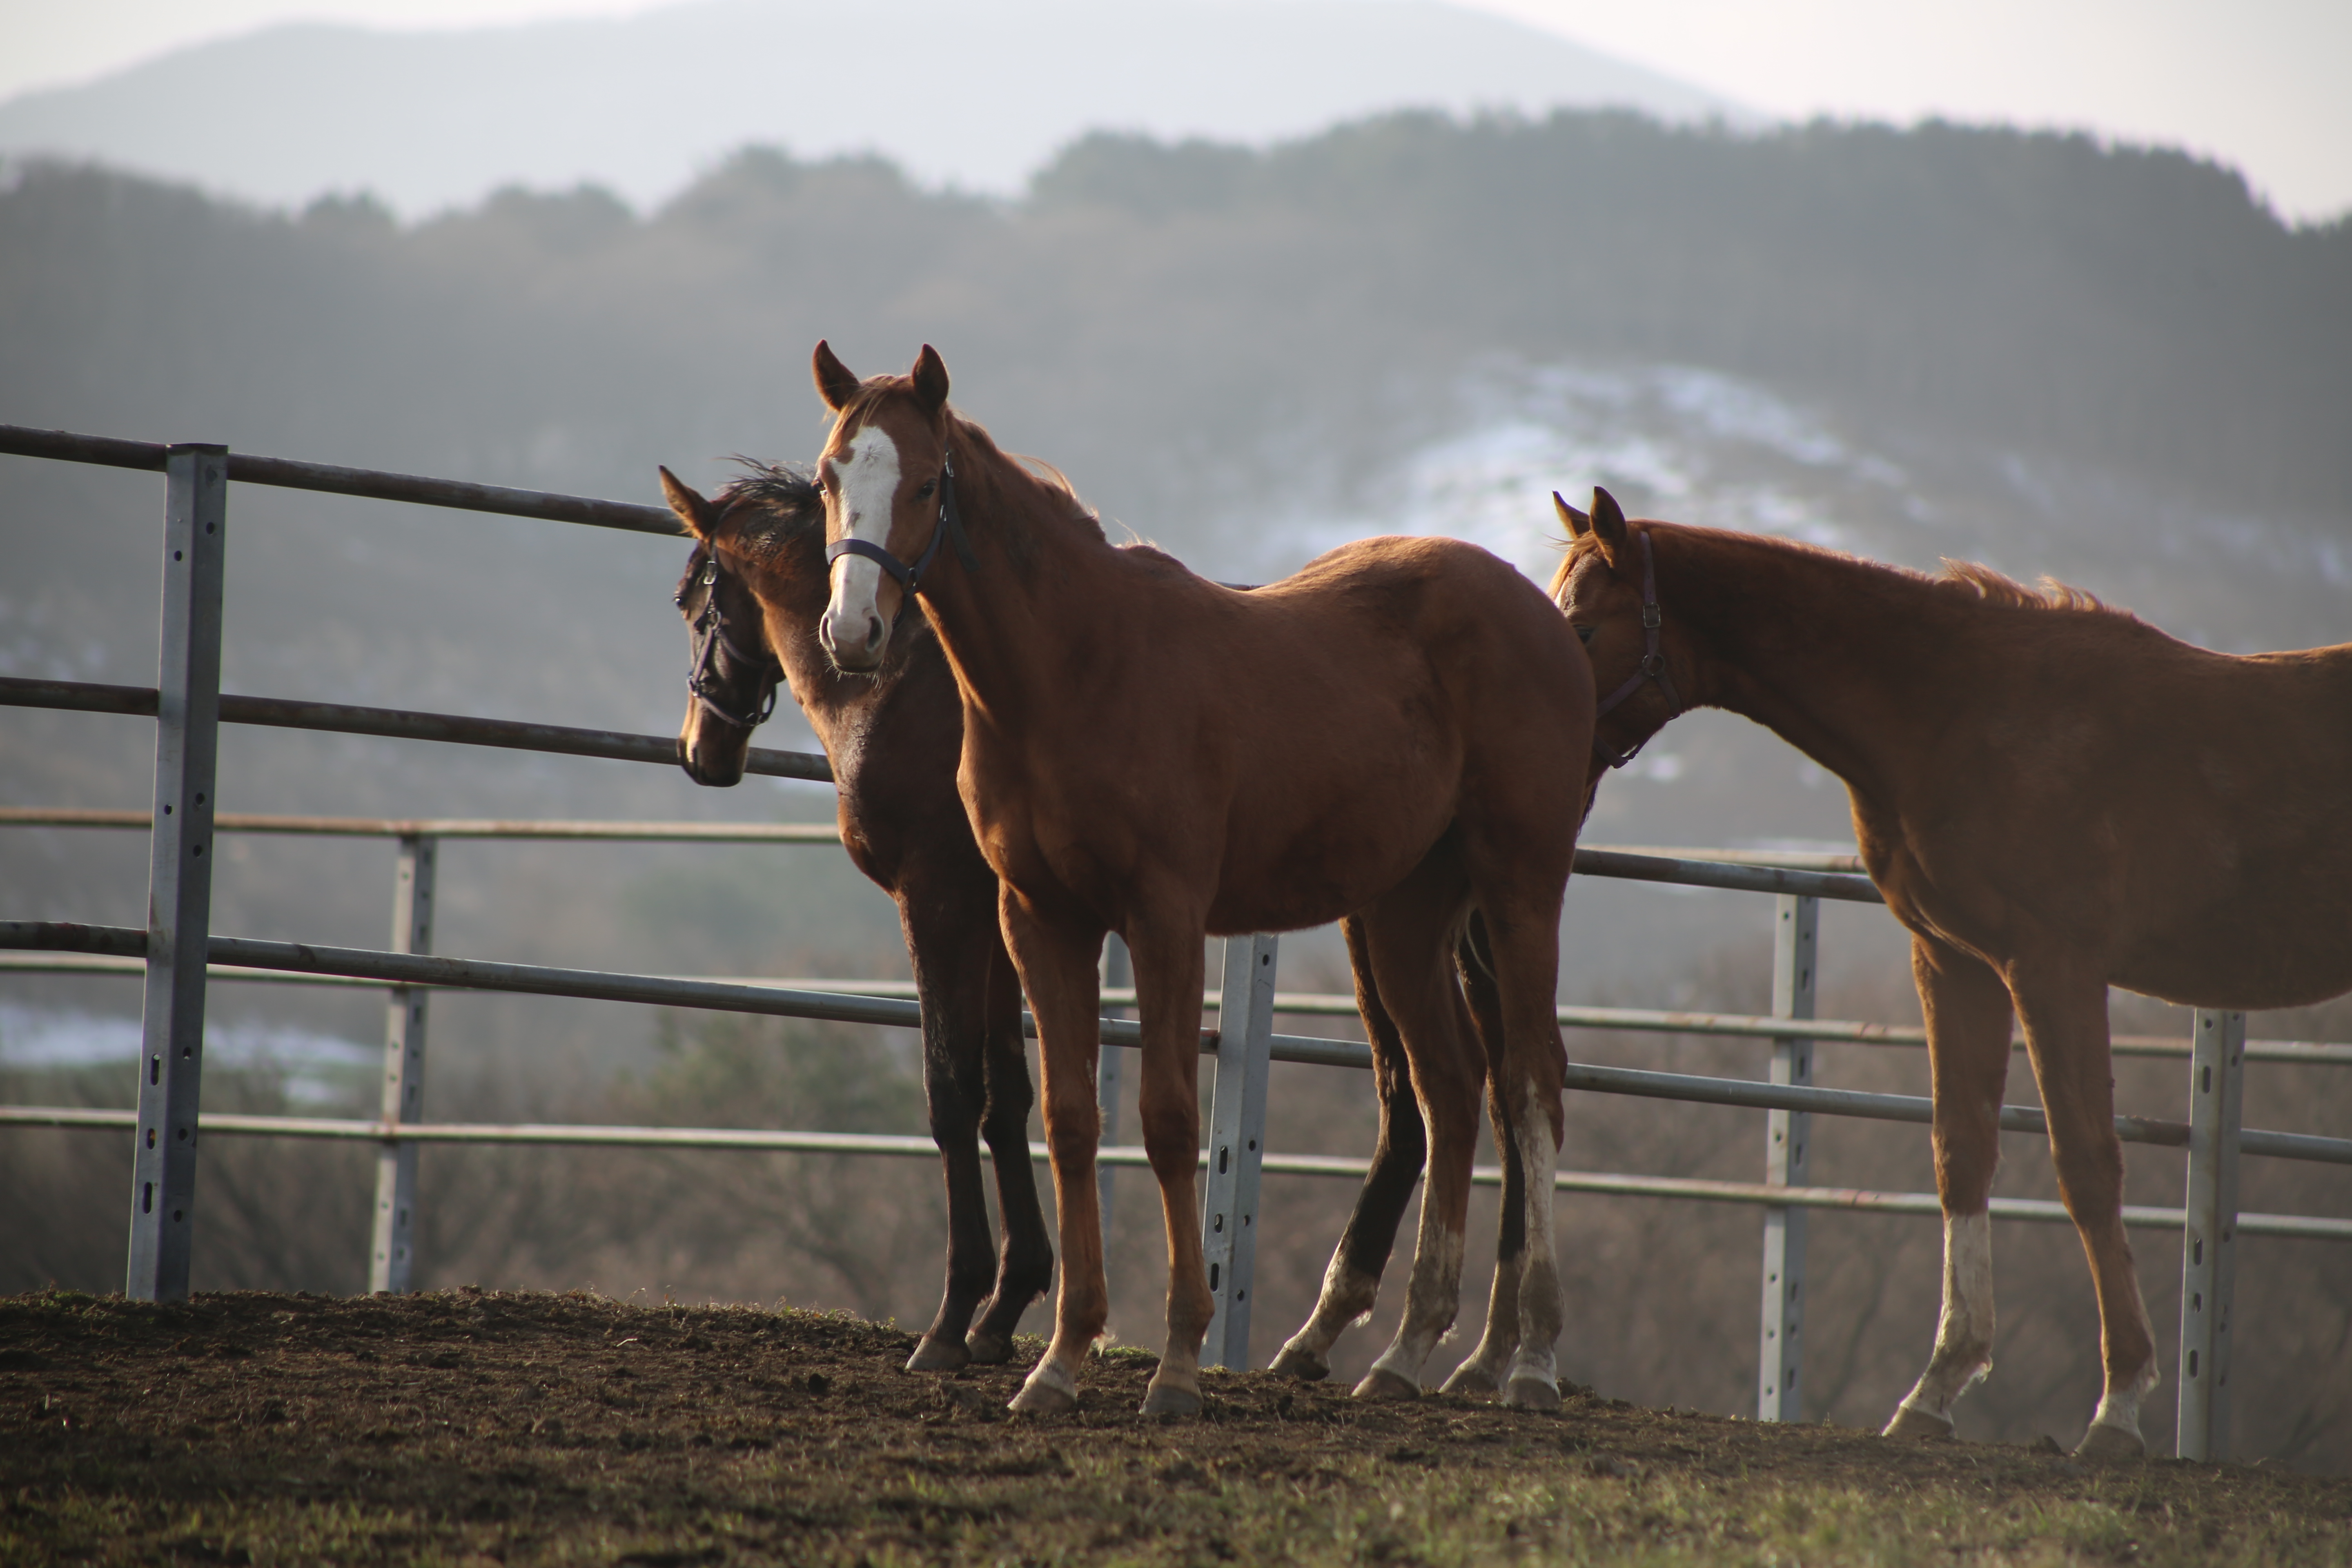
<svg viewBox="0 0 2352 1568">
<path fill-rule="evenodd" d="M 1708 548 L 1733 559 L 1684 590 L 1710 644 L 1693 701 L 1764 724 L 1856 790 L 1884 795 L 1915 731 L 1938 724 L 1922 684 L 1933 684 L 1959 607 L 1863 562 L 1766 541 Z"/>
</svg>

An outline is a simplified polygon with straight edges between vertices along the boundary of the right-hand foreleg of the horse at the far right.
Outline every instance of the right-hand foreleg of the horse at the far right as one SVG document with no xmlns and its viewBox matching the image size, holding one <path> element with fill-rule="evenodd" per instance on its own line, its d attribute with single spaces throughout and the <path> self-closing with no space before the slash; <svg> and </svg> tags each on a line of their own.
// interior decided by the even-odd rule
<svg viewBox="0 0 2352 1568">
<path fill-rule="evenodd" d="M 2147 1453 L 2140 1399 L 2157 1387 L 2157 1338 L 2124 1234 L 2124 1143 L 2114 1135 L 2107 980 L 2084 961 L 2020 961 L 2009 987 L 2025 1020 L 2025 1048 L 2051 1124 L 2058 1197 L 2082 1234 L 2098 1288 L 2105 1387 L 2074 1453 L 2136 1460 Z"/>
</svg>

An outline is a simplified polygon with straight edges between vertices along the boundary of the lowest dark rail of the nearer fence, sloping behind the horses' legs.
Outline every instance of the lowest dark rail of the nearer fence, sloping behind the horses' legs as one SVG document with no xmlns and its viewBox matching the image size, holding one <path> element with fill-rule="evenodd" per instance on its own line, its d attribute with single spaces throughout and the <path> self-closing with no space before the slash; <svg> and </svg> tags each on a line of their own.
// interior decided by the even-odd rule
<svg viewBox="0 0 2352 1568">
<path fill-rule="evenodd" d="M 82 926 L 71 922 L 0 922 L 0 950 L 64 950 L 106 957 L 143 957 L 146 931 L 129 926 Z M 833 990 L 783 990 L 776 985 L 680 980 L 668 976 L 628 976 L 597 969 L 548 969 L 541 964 L 494 964 L 487 959 L 452 959 L 419 952 L 374 952 L 367 947 L 320 947 L 313 943 L 270 943 L 242 936 L 214 936 L 209 957 L 219 964 L 278 969 L 301 973 L 355 976 L 400 985 L 435 985 L 445 990 L 522 992 L 532 997 L 576 997 L 586 1001 L 640 1001 L 654 1006 L 691 1006 L 781 1018 L 821 1018 L 830 1023 L 880 1023 L 920 1027 L 922 1009 L 898 997 L 856 997 Z M 1035 1023 L 1023 1013 L 1035 1034 Z M 1105 1046 L 1136 1046 L 1143 1025 L 1105 1018 Z M 1790 1027 L 1783 1020 L 1783 1027 Z M 1216 1032 L 1202 1030 L 1202 1051 L 1216 1048 Z M 1272 1060 L 1315 1063 L 1324 1067 L 1369 1067 L 1371 1046 L 1348 1039 L 1312 1039 L 1275 1034 Z M 1623 1093 L 1686 1105 L 1738 1105 L 1750 1110 L 1797 1110 L 1828 1117 L 1863 1117 L 1872 1121 L 1931 1121 L 1933 1103 L 1922 1095 L 1865 1093 L 1858 1088 L 1811 1088 L 1802 1084 L 1757 1084 L 1750 1079 L 1712 1079 L 1686 1072 L 1644 1072 L 1635 1067 L 1597 1067 L 1569 1063 L 1569 1088 Z M 2002 1107 L 2002 1131 L 2046 1133 L 2044 1114 L 2027 1105 Z M 2117 1117 L 2114 1133 L 2124 1143 L 2187 1147 L 2185 1121 Z M 2239 1133 L 2246 1154 L 2352 1164 L 2352 1140 L 2307 1133 Z"/>
</svg>

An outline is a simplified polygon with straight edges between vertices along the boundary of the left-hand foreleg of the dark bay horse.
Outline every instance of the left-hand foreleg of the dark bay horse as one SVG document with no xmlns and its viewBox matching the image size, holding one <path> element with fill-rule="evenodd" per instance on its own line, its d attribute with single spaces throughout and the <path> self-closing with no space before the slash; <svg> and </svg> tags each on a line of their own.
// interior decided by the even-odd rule
<svg viewBox="0 0 2352 1568">
<path fill-rule="evenodd" d="M 981 1187 L 981 1053 L 988 1032 L 988 931 L 953 919 L 936 900 L 901 893 L 898 919 L 922 997 L 922 1098 L 948 1182 L 948 1284 L 938 1314 L 908 1359 L 913 1373 L 964 1366 L 964 1328 L 993 1269 L 988 1199 Z"/>
</svg>

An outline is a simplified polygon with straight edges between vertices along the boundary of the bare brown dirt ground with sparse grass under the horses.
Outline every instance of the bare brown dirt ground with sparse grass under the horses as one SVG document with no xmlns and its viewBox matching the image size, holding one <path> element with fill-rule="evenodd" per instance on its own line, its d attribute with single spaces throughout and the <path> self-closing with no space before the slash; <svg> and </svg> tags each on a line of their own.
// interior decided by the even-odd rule
<svg viewBox="0 0 2352 1568">
<path fill-rule="evenodd" d="M 2352 1481 L 1089 1361 L 597 1295 L 0 1300 L 5 1561 L 2352 1563 Z M 1025 1345 L 1035 1354 L 1035 1345 Z"/>
</svg>

